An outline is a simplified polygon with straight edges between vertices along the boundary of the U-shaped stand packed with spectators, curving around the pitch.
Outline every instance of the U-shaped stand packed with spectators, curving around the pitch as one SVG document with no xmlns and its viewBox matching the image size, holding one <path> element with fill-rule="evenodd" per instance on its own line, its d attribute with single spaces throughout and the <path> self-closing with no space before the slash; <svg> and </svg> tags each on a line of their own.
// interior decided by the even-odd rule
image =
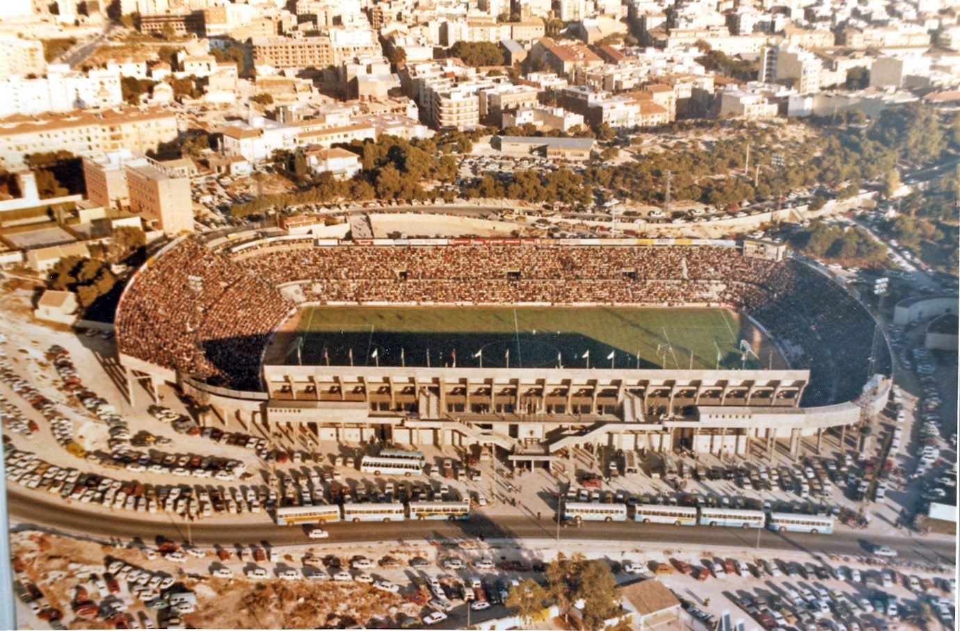
<svg viewBox="0 0 960 631">
<path fill-rule="evenodd" d="M 265 346 L 303 301 L 728 306 L 800 349 L 790 359 L 811 368 L 806 406 L 855 397 L 874 339 L 872 316 L 816 270 L 735 247 L 267 240 L 230 249 L 186 237 L 125 292 L 120 351 L 213 385 L 260 389 Z M 876 371 L 888 364 L 881 358 Z"/>
</svg>

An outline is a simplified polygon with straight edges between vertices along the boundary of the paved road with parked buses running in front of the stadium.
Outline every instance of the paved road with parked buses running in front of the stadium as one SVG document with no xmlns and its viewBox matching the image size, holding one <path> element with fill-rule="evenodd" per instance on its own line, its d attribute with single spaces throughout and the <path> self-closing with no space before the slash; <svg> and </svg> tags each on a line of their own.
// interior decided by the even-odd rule
<svg viewBox="0 0 960 631">
<path fill-rule="evenodd" d="M 92 538 L 140 538 L 153 543 L 164 535 L 175 541 L 185 540 L 186 528 L 176 518 L 168 525 L 158 525 L 124 516 L 119 512 L 96 514 L 71 511 L 59 498 L 36 498 L 16 487 L 8 487 L 8 505 L 12 528 L 36 527 L 85 535 Z M 19 525 L 19 526 L 17 526 Z M 387 539 L 421 540 L 434 538 L 485 539 L 553 539 L 557 527 L 544 515 L 536 517 L 509 516 L 495 520 L 474 516 L 468 522 L 404 522 L 402 524 L 335 524 L 330 526 L 330 541 L 356 543 Z M 200 522 L 191 527 L 192 540 L 198 545 L 258 544 L 268 541 L 273 546 L 311 543 L 300 527 L 281 527 L 268 523 L 243 525 Z M 561 528 L 561 540 L 657 542 L 674 545 L 731 546 L 752 549 L 756 547 L 756 530 L 739 528 L 684 527 L 643 525 L 633 522 L 600 524 L 588 523 L 579 528 Z M 760 531 L 760 548 L 841 555 L 864 554 L 863 534 L 846 528 L 832 535 L 783 535 Z M 872 537 L 871 544 L 890 546 L 900 550 L 900 558 L 913 561 L 953 563 L 954 546 L 951 540 L 928 537 Z"/>
</svg>

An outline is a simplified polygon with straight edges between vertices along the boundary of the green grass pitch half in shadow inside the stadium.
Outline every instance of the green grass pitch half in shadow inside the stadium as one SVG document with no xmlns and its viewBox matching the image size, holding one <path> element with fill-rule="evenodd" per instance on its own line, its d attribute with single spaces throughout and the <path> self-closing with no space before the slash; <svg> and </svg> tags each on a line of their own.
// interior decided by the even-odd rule
<svg viewBox="0 0 960 631">
<path fill-rule="evenodd" d="M 784 367 L 725 309 L 308 307 L 275 342 L 288 364 L 739 368 L 743 340 L 746 367 Z"/>
</svg>

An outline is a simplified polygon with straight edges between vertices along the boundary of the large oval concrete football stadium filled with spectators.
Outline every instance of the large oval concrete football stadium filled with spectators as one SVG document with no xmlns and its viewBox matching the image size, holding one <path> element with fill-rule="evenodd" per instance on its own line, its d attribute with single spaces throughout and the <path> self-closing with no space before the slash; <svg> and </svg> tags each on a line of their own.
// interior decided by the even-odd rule
<svg viewBox="0 0 960 631">
<path fill-rule="evenodd" d="M 873 316 L 820 270 L 707 240 L 185 236 L 116 314 L 134 384 L 270 436 L 745 454 L 886 403 Z M 819 444 L 819 439 L 818 439 Z"/>
</svg>

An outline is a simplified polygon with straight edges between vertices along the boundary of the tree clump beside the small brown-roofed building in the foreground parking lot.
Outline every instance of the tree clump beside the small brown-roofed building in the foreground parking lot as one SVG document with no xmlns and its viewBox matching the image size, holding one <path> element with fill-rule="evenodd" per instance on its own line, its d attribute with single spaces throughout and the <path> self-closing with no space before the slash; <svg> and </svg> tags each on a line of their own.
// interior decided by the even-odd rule
<svg viewBox="0 0 960 631">
<path fill-rule="evenodd" d="M 505 604 L 525 624 L 542 617 L 544 610 L 556 604 L 567 611 L 583 601 L 583 628 L 597 629 L 618 611 L 620 591 L 613 573 L 603 561 L 588 560 L 582 554 L 566 558 L 561 552 L 546 568 L 546 585 L 529 578 L 507 595 Z"/>
</svg>

